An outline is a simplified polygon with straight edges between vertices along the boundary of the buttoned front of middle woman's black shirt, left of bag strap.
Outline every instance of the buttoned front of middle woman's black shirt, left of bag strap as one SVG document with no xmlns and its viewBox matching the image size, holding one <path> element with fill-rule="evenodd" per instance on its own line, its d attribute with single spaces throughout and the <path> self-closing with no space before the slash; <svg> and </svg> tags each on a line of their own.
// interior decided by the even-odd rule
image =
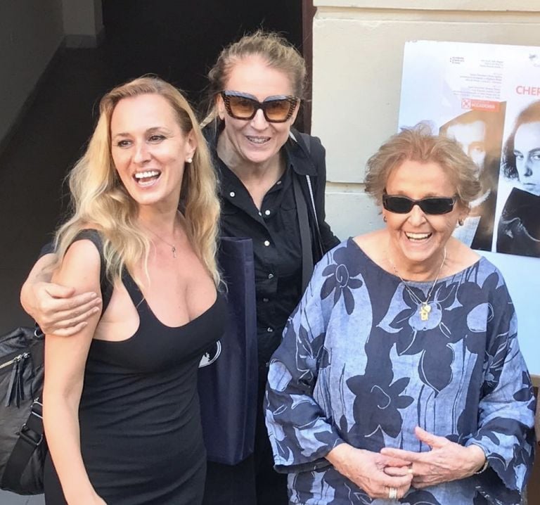
<svg viewBox="0 0 540 505">
<path fill-rule="evenodd" d="M 219 160 L 221 235 L 253 242 L 260 364 L 276 350 L 302 295 L 302 249 L 291 170 L 288 167 L 266 193 L 258 210 L 240 179 Z"/>
</svg>

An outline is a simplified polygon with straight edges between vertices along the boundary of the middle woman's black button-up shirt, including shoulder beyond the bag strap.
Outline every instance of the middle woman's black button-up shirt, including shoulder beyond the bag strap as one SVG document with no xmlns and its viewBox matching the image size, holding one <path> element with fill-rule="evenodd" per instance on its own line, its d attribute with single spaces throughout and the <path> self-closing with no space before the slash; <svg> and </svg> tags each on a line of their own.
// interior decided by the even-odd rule
<svg viewBox="0 0 540 505">
<path fill-rule="evenodd" d="M 205 134 L 219 177 L 221 236 L 251 238 L 253 242 L 257 345 L 262 368 L 281 342 L 287 319 L 302 296 L 302 247 L 293 177 L 299 177 L 304 186 L 302 191 L 311 215 L 311 236 L 315 224 L 306 175 L 313 184 L 323 252 L 339 243 L 324 219 L 324 148 L 319 139 L 311 138 L 314 152 L 308 153 L 295 141 L 288 140 L 282 148 L 285 172 L 266 193 L 259 210 L 240 179 L 219 159 L 216 151 L 219 132 L 207 127 Z M 320 254 L 314 254 L 314 261 L 319 259 Z"/>
</svg>

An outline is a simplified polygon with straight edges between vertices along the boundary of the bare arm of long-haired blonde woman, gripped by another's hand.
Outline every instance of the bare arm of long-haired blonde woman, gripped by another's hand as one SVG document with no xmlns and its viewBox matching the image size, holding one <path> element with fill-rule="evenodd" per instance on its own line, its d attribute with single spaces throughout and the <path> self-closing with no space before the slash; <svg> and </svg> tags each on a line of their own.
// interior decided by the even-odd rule
<svg viewBox="0 0 540 505">
<path fill-rule="evenodd" d="M 91 241 L 73 243 L 53 281 L 73 286 L 75 293 L 100 291 L 101 260 Z M 68 504 L 104 504 L 84 468 L 80 451 L 78 409 L 88 357 L 99 315 L 75 335 L 47 334 L 45 339 L 44 426 L 60 483 Z"/>
</svg>

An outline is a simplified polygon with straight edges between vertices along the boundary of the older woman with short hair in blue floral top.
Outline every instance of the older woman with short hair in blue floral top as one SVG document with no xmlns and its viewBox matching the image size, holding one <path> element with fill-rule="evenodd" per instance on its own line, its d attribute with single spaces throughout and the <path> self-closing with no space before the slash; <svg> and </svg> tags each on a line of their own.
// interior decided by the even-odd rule
<svg viewBox="0 0 540 505">
<path fill-rule="evenodd" d="M 519 504 L 534 396 L 501 272 L 451 236 L 479 190 L 450 139 L 368 161 L 385 229 L 319 262 L 271 360 L 266 424 L 290 503 Z"/>
</svg>

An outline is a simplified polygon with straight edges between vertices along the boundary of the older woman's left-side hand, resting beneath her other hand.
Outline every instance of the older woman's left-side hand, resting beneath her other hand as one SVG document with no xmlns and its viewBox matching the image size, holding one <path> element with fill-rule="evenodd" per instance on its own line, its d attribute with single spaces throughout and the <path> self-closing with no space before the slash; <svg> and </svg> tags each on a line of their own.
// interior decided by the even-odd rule
<svg viewBox="0 0 540 505">
<path fill-rule="evenodd" d="M 371 498 L 388 499 L 390 488 L 394 487 L 397 490 L 397 499 L 400 499 L 411 487 L 411 474 L 392 476 L 384 471 L 386 466 L 406 468 L 409 461 L 404 459 L 356 449 L 348 444 L 340 444 L 332 449 L 326 459 L 339 473 L 361 487 Z"/>
</svg>

